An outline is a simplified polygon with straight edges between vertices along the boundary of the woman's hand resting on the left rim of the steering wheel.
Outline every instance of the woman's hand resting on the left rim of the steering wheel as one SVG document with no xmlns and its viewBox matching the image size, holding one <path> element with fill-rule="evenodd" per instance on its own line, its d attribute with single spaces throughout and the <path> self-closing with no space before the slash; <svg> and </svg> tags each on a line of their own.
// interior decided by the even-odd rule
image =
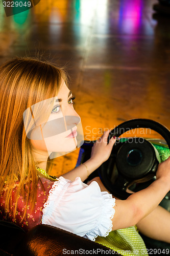
<svg viewBox="0 0 170 256">
<path fill-rule="evenodd" d="M 90 159 L 93 159 L 93 161 L 100 163 L 100 165 L 110 157 L 112 147 L 116 141 L 116 138 L 112 137 L 109 140 L 109 143 L 107 143 L 110 131 L 111 130 L 104 132 L 104 134 L 98 140 L 96 140 L 91 149 Z"/>
</svg>

